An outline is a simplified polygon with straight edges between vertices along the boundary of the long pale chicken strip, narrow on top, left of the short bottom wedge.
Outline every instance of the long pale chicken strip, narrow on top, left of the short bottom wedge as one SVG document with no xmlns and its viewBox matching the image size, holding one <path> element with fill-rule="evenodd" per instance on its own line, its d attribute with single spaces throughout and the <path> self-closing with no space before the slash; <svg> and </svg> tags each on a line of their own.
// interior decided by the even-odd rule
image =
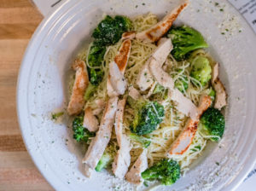
<svg viewBox="0 0 256 191">
<path fill-rule="evenodd" d="M 119 144 L 119 151 L 115 156 L 112 164 L 112 170 L 115 177 L 125 177 L 128 167 L 131 163 L 131 146 L 130 141 L 123 134 L 123 119 L 125 112 L 125 99 L 118 102 L 118 110 L 115 116 L 115 134 L 117 136 L 117 142 Z"/>
</svg>

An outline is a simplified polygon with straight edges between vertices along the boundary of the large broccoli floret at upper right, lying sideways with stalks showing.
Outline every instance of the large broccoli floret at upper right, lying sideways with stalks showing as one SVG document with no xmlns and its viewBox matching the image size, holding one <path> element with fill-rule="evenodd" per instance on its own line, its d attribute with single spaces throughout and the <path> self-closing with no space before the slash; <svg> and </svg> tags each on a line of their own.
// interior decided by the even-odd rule
<svg viewBox="0 0 256 191">
<path fill-rule="evenodd" d="M 168 38 L 172 38 L 172 55 L 177 61 L 182 61 L 189 52 L 195 49 L 208 47 L 201 33 L 189 26 L 172 28 L 168 32 Z"/>
</svg>

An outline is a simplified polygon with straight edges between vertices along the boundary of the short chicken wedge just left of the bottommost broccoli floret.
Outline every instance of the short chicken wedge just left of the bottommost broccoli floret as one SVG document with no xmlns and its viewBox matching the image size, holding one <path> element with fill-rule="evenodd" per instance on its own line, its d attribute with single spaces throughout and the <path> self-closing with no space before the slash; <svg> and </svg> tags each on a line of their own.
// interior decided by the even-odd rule
<svg viewBox="0 0 256 191">
<path fill-rule="evenodd" d="M 130 171 L 126 173 L 125 178 L 128 182 L 134 184 L 140 184 L 143 182 L 141 174 L 148 168 L 147 153 L 147 149 L 143 150 L 143 153 L 140 154 L 134 165 L 131 166 Z"/>
</svg>

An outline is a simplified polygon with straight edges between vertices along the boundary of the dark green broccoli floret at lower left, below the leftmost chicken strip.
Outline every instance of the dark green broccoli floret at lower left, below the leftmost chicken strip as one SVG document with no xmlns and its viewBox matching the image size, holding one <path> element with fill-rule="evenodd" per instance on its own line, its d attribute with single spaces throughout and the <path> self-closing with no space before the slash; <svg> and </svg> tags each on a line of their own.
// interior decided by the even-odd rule
<svg viewBox="0 0 256 191">
<path fill-rule="evenodd" d="M 77 142 L 88 143 L 89 138 L 94 136 L 94 132 L 90 132 L 84 128 L 82 116 L 77 116 L 75 119 L 73 119 L 73 138 Z"/>
</svg>

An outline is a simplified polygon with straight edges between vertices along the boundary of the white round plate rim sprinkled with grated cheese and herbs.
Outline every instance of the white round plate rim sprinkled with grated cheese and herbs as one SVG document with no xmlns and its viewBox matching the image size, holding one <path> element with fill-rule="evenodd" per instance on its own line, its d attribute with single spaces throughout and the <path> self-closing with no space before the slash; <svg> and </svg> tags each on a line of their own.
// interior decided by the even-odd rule
<svg viewBox="0 0 256 191">
<path fill-rule="evenodd" d="M 256 158 L 253 152 L 256 147 L 256 78 L 253 75 L 256 72 L 256 38 L 229 3 L 219 1 L 224 7 L 222 12 L 210 2 L 191 1 L 177 21 L 198 29 L 210 44 L 211 54 L 221 63 L 221 78 L 229 94 L 226 130 L 220 144 L 207 145 L 203 156 L 193 163 L 186 177 L 172 186 L 175 190 L 230 191 L 242 182 Z M 39 171 L 56 190 L 130 187 L 107 173 L 96 173 L 91 179 L 84 177 L 81 165 L 84 152 L 73 142 L 71 128 L 53 123 L 50 113 L 66 106 L 70 64 L 79 49 L 90 40 L 90 33 L 103 13 L 132 16 L 151 11 L 161 17 L 174 6 L 167 0 L 144 3 L 140 0 L 67 1 L 44 19 L 26 49 L 17 89 L 20 129 Z M 241 32 L 238 32 L 240 27 Z M 222 35 L 226 28 L 234 35 L 229 32 Z"/>
</svg>

